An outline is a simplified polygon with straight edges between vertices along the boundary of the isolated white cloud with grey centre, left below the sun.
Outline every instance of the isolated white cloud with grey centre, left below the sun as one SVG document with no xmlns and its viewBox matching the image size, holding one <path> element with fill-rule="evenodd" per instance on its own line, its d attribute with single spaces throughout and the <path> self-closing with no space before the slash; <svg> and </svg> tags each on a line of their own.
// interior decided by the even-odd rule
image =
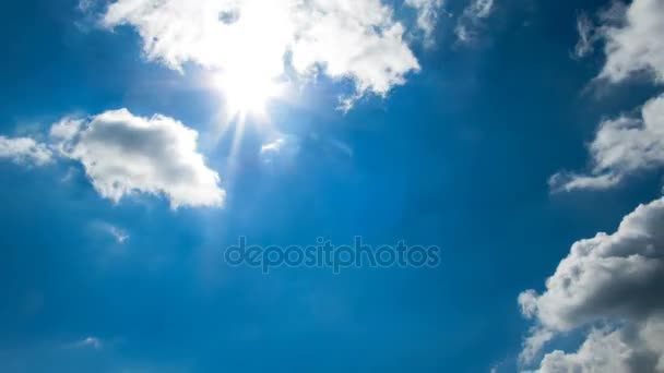
<svg viewBox="0 0 664 373">
<path fill-rule="evenodd" d="M 218 175 L 197 151 L 198 133 L 179 121 L 127 109 L 51 128 L 60 154 L 80 161 L 95 190 L 115 202 L 133 192 L 165 195 L 173 208 L 220 206 Z"/>
</svg>

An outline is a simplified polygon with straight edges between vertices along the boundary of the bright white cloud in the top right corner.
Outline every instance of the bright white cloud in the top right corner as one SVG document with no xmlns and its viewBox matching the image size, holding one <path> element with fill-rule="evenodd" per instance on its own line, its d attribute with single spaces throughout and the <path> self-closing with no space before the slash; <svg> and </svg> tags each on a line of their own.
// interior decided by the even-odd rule
<svg viewBox="0 0 664 373">
<path fill-rule="evenodd" d="M 618 14 L 617 14 L 618 13 Z M 620 14 L 621 13 L 621 14 Z M 608 13 L 607 13 L 608 14 Z M 619 82 L 647 71 L 664 81 L 664 2 L 635 0 L 629 7 L 614 7 L 601 27 L 606 63 L 600 77 Z M 621 15 L 617 25 L 616 17 Z"/>
</svg>

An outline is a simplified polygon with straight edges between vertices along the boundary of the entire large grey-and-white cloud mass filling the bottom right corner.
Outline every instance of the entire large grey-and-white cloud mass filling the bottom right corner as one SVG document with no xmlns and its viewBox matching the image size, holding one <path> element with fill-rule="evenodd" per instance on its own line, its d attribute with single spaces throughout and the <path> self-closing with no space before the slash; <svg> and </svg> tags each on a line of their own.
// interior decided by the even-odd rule
<svg viewBox="0 0 664 373">
<path fill-rule="evenodd" d="M 536 326 L 523 361 L 556 335 L 602 323 L 576 353 L 554 351 L 536 372 L 664 372 L 664 200 L 639 206 L 613 234 L 576 242 L 542 293 L 519 302 Z"/>
</svg>

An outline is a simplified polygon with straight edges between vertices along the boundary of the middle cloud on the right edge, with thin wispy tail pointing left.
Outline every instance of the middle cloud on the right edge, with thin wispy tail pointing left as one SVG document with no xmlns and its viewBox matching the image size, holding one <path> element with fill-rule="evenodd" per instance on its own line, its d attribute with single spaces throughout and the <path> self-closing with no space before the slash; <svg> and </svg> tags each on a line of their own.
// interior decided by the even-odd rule
<svg viewBox="0 0 664 373">
<path fill-rule="evenodd" d="M 641 118 L 604 121 L 590 144 L 590 175 L 562 172 L 550 179 L 554 190 L 605 189 L 626 176 L 664 166 L 664 95 L 648 101 Z"/>
</svg>

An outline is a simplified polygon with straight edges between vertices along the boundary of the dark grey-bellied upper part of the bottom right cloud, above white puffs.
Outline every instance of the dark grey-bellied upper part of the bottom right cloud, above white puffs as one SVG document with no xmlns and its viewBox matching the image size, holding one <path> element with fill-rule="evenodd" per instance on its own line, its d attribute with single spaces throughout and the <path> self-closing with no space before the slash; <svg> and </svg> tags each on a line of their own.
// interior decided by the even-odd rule
<svg viewBox="0 0 664 373">
<path fill-rule="evenodd" d="M 576 242 L 546 291 L 521 294 L 526 316 L 555 330 L 598 317 L 648 316 L 664 310 L 664 200 L 639 206 L 613 234 Z"/>
</svg>

